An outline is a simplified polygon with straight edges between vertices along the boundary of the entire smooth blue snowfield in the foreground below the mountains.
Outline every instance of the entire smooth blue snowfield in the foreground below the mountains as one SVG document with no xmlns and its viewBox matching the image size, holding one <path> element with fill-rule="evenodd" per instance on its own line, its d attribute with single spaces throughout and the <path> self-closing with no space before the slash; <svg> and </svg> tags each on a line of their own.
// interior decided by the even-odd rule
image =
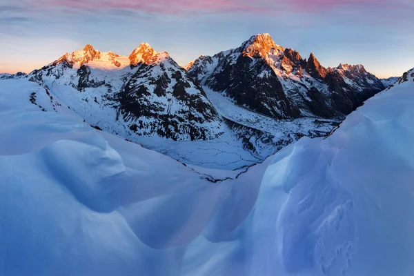
<svg viewBox="0 0 414 276">
<path fill-rule="evenodd" d="M 0 81 L 0 274 L 414 275 L 413 105 L 407 81 L 237 177 Z"/>
</svg>

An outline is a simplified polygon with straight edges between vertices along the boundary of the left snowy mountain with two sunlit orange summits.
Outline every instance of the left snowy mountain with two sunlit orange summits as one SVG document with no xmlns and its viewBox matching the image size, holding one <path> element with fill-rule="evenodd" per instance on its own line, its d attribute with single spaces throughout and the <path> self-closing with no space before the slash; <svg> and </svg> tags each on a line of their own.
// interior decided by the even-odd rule
<svg viewBox="0 0 414 276">
<path fill-rule="evenodd" d="M 141 43 L 129 57 L 87 45 L 28 75 L 66 92 L 67 105 L 90 124 L 132 138 L 213 139 L 221 118 L 197 83 L 167 52 Z M 67 94 L 70 94 L 68 97 Z"/>
</svg>

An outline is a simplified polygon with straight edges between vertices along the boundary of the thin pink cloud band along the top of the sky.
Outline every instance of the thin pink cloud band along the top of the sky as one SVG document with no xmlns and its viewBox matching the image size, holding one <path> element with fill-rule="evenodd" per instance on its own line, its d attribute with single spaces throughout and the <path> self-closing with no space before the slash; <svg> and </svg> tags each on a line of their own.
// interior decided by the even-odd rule
<svg viewBox="0 0 414 276">
<path fill-rule="evenodd" d="M 400 0 L 397 0 L 400 1 Z M 132 10 L 158 14 L 317 12 L 333 8 L 398 8 L 387 0 L 35 0 L 42 8 Z M 388 3 L 387 3 L 388 2 Z"/>
</svg>

